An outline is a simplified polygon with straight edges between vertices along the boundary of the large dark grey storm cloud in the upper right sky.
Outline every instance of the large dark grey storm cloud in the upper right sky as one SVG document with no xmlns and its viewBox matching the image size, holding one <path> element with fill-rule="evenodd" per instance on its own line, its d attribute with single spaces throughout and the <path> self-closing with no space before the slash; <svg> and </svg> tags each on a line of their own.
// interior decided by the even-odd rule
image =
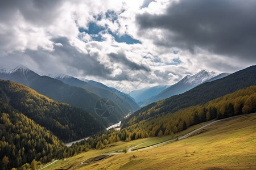
<svg viewBox="0 0 256 170">
<path fill-rule="evenodd" d="M 255 61 L 256 1 L 180 0 L 172 2 L 165 14 L 137 15 L 141 28 L 159 28 L 166 32 L 157 45 L 209 52 Z"/>
</svg>

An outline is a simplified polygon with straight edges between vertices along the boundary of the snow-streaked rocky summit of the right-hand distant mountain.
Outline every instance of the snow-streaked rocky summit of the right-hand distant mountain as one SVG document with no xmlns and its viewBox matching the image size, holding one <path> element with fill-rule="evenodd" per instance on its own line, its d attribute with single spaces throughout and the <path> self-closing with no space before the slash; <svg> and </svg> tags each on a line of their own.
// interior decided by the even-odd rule
<svg viewBox="0 0 256 170">
<path fill-rule="evenodd" d="M 189 83 L 189 84 L 200 84 L 203 83 L 211 78 L 213 78 L 214 76 L 216 76 L 216 73 L 214 73 L 213 71 L 205 71 L 205 70 L 201 70 L 199 71 L 199 73 L 188 77 L 185 80 L 185 83 Z"/>
</svg>

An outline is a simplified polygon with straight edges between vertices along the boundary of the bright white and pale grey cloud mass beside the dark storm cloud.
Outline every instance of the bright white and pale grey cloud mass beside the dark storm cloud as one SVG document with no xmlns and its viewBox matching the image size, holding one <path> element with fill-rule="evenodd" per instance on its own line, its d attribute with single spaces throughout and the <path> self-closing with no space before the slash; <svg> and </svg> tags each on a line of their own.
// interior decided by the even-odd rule
<svg viewBox="0 0 256 170">
<path fill-rule="evenodd" d="M 197 48 L 191 53 L 189 49 L 181 48 L 182 44 L 173 45 L 169 38 L 175 32 L 167 29 L 141 29 L 137 15 L 166 14 L 170 3 L 178 1 L 152 1 L 148 7 L 141 8 L 143 2 L 77 0 L 44 4 L 27 1 L 26 6 L 13 3 L 0 7 L 0 15 L 8 16 L 0 16 L 0 59 L 2 63 L 22 63 L 39 72 L 64 73 L 109 85 L 121 80 L 131 90 L 134 87 L 124 78 L 133 68 L 131 64 L 145 68 L 141 71 L 146 79 L 137 88 L 174 84 L 185 75 L 195 74 L 201 69 L 232 72 L 251 64 L 207 49 Z M 117 18 L 112 11 L 118 15 Z M 106 17 L 106 12 L 112 17 Z M 101 20 L 97 19 L 98 16 Z M 142 44 L 118 43 L 108 30 L 99 33 L 101 42 L 94 41 L 89 33 L 79 32 L 80 27 L 88 29 L 90 22 L 107 27 L 118 36 L 130 35 Z M 179 53 L 173 54 L 174 50 Z M 109 57 L 110 53 L 125 56 L 123 61 L 115 61 Z M 171 65 L 174 59 L 181 63 Z"/>
</svg>

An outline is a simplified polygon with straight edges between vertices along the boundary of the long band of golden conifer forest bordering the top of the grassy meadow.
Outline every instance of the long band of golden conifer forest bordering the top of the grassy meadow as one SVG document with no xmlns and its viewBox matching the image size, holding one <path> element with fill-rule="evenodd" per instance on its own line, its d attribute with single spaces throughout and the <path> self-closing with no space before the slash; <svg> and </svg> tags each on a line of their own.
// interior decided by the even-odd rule
<svg viewBox="0 0 256 170">
<path fill-rule="evenodd" d="M 150 114 L 148 111 L 146 114 Z M 222 119 L 256 112 L 256 86 L 238 90 L 208 103 L 180 109 L 175 113 L 158 114 L 146 120 L 129 120 L 129 125 L 121 130 L 109 130 L 94 135 L 87 140 L 75 143 L 71 146 L 73 152 L 79 154 L 90 149 L 102 149 L 106 145 L 118 141 L 129 142 L 131 140 L 147 137 L 160 137 L 172 135 L 185 130 L 188 126 L 201 122 Z"/>
</svg>

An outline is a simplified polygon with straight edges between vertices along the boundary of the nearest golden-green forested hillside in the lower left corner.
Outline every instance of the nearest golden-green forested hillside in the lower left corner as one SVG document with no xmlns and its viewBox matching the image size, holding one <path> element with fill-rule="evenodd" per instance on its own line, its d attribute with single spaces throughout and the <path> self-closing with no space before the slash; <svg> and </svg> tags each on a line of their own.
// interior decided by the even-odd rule
<svg viewBox="0 0 256 170">
<path fill-rule="evenodd" d="M 51 131 L 0 101 L 0 169 L 63 158 L 64 148 Z"/>
</svg>

